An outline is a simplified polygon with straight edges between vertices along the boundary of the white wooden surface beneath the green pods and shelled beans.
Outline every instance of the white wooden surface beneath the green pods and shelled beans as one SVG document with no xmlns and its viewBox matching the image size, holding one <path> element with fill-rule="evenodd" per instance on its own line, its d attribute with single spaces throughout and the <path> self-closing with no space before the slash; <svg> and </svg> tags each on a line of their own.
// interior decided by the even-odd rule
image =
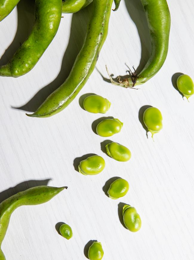
<svg viewBox="0 0 194 260">
<path fill-rule="evenodd" d="M 51 179 L 50 186 L 68 186 L 44 205 L 23 206 L 13 213 L 2 244 L 7 260 L 86 259 L 84 247 L 90 240 L 102 243 L 105 260 L 193 259 L 194 98 L 190 103 L 183 100 L 171 77 L 181 72 L 194 79 L 194 4 L 192 0 L 168 1 L 172 24 L 167 59 L 138 91 L 113 86 L 98 73 L 107 77 L 105 64 L 115 76 L 125 74 L 125 63 L 138 67 L 141 48 L 141 67 L 149 57 L 150 38 L 141 2 L 126 0 L 126 4 L 122 0 L 119 10 L 111 13 L 96 69 L 63 112 L 39 119 L 28 118 L 24 110 L 37 108 L 67 77 L 81 48 L 91 7 L 73 16 L 64 14 L 56 37 L 30 73 L 17 79 L 0 78 L 0 200 L 25 187 L 47 184 L 41 180 Z M 32 24 L 33 2 L 21 0 L 0 23 L 1 64 L 24 41 Z M 103 115 L 80 107 L 79 98 L 86 93 L 111 101 L 104 116 L 119 118 L 124 126 L 109 139 L 130 148 L 129 162 L 119 163 L 101 151 L 106 139 L 96 135 L 91 125 Z M 27 109 L 13 108 L 23 106 L 34 95 Z M 146 105 L 156 106 L 163 115 L 164 128 L 155 135 L 155 142 L 150 133 L 147 139 L 140 122 L 141 107 Z M 90 153 L 106 160 L 106 168 L 97 176 L 81 175 L 73 166 L 76 157 Z M 116 176 L 127 179 L 130 190 L 114 201 L 102 188 Z M 36 182 L 20 184 L 29 180 Z M 122 226 L 120 202 L 136 207 L 142 219 L 139 232 L 131 233 Z M 121 213 L 121 207 L 119 210 Z M 58 235 L 58 222 L 72 227 L 71 240 Z"/>
</svg>

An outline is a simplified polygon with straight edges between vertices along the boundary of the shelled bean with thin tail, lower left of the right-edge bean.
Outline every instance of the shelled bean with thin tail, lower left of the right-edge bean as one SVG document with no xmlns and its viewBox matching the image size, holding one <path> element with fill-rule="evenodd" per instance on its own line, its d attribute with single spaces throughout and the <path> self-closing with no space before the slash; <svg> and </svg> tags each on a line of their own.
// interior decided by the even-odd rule
<svg viewBox="0 0 194 260">
<path fill-rule="evenodd" d="M 144 111 L 144 124 L 148 131 L 152 133 L 152 138 L 155 133 L 159 133 L 162 129 L 162 114 L 156 107 L 149 107 Z"/>
</svg>

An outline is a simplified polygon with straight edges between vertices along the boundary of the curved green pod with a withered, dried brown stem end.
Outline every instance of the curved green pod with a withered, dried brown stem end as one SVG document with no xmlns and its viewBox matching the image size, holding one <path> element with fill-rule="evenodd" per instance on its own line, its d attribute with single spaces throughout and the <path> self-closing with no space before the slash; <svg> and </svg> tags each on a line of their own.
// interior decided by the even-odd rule
<svg viewBox="0 0 194 260">
<path fill-rule="evenodd" d="M 132 88 L 141 85 L 151 79 L 162 67 L 168 52 L 170 34 L 170 11 L 166 0 L 141 0 L 151 36 L 151 56 L 143 70 L 137 75 L 132 73 L 129 78 L 113 81 L 111 83 L 121 85 L 125 88 Z"/>
</svg>

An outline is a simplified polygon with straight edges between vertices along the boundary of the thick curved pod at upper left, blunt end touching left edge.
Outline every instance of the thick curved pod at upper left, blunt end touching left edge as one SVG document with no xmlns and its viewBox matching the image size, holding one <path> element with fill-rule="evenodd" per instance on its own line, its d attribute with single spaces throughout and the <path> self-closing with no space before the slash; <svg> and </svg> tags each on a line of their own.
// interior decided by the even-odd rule
<svg viewBox="0 0 194 260">
<path fill-rule="evenodd" d="M 11 60 L 0 67 L 0 76 L 19 77 L 32 70 L 58 30 L 61 11 L 61 0 L 35 1 L 32 31 Z"/>
</svg>

